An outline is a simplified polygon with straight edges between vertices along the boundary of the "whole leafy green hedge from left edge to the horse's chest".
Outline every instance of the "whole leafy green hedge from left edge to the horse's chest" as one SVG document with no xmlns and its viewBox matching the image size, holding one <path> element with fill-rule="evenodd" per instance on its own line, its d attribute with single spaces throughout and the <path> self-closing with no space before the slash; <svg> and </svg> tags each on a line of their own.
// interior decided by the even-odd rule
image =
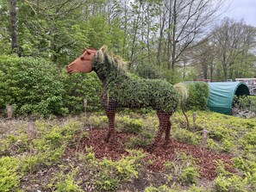
<svg viewBox="0 0 256 192">
<path fill-rule="evenodd" d="M 46 59 L 0 56 L 0 108 L 11 104 L 18 115 L 81 112 L 84 97 L 96 109 L 99 88 L 93 74 L 69 77 Z"/>
</svg>

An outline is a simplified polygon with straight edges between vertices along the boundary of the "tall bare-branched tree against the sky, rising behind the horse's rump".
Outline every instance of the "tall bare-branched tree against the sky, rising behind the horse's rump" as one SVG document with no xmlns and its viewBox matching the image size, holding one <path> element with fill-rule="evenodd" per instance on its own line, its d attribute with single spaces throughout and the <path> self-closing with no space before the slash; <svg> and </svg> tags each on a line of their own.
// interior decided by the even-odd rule
<svg viewBox="0 0 256 192">
<path fill-rule="evenodd" d="M 164 0 L 158 47 L 165 47 L 168 68 L 175 66 L 190 46 L 202 38 L 210 22 L 222 8 L 223 0 Z M 163 33 L 165 32 L 165 33 Z M 165 38 L 165 45 L 163 45 Z M 159 55 L 160 50 L 158 50 Z"/>
</svg>

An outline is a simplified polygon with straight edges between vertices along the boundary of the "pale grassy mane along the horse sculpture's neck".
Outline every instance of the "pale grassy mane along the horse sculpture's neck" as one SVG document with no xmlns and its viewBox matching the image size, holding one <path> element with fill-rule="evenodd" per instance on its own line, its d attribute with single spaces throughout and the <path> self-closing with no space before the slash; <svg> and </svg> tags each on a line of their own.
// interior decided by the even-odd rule
<svg viewBox="0 0 256 192">
<path fill-rule="evenodd" d="M 101 64 L 104 64 L 106 61 L 110 65 L 116 66 L 118 71 L 124 71 L 127 63 L 122 59 L 122 57 L 114 55 L 113 53 L 108 53 L 108 47 L 102 46 L 97 53 L 95 54 L 95 59 Z M 107 59 L 107 60 L 106 60 Z"/>
</svg>

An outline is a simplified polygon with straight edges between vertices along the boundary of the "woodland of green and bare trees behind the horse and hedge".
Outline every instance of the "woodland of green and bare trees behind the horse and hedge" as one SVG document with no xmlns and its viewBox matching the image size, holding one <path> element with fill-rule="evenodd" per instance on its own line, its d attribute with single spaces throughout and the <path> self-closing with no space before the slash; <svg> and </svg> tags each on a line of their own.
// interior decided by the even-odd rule
<svg viewBox="0 0 256 192">
<path fill-rule="evenodd" d="M 0 54 L 59 67 L 84 46 L 107 45 L 141 77 L 178 83 L 255 77 L 256 28 L 228 17 L 224 0 L 1 0 Z"/>
</svg>

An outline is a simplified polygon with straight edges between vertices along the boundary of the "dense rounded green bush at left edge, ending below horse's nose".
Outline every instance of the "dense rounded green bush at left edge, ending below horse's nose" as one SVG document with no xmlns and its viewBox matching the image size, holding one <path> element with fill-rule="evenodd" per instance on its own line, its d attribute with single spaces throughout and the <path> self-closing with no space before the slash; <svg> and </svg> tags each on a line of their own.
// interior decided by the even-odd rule
<svg viewBox="0 0 256 192">
<path fill-rule="evenodd" d="M 58 72 L 44 59 L 1 56 L 0 107 L 12 104 L 19 115 L 65 115 L 65 90 Z"/>
</svg>

